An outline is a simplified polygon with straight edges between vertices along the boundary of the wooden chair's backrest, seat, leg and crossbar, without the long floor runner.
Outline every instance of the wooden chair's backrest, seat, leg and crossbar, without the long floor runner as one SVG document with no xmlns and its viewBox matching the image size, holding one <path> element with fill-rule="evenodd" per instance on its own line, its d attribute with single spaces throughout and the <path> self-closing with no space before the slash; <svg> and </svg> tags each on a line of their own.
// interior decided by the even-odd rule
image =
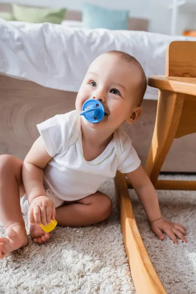
<svg viewBox="0 0 196 294">
<path fill-rule="evenodd" d="M 172 42 L 167 53 L 166 76 L 151 76 L 148 85 L 159 89 L 159 97 L 147 174 L 156 189 L 196 190 L 193 181 L 158 180 L 174 138 L 196 133 L 196 42 Z"/>
</svg>

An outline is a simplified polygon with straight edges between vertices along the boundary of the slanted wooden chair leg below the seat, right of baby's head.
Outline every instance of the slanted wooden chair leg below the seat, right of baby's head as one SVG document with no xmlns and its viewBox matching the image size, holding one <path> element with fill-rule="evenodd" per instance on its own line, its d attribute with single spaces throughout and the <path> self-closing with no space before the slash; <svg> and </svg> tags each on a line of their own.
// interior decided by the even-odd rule
<svg viewBox="0 0 196 294">
<path fill-rule="evenodd" d="M 182 109 L 184 94 L 159 91 L 156 122 L 145 170 L 156 186 L 161 167 L 175 137 Z"/>
</svg>

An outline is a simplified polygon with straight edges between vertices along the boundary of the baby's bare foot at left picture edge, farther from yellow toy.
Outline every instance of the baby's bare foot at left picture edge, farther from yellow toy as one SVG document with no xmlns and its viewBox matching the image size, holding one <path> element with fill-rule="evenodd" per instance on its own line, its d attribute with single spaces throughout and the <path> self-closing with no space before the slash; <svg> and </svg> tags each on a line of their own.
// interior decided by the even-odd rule
<svg viewBox="0 0 196 294">
<path fill-rule="evenodd" d="M 24 247 L 28 243 L 24 225 L 10 225 L 6 229 L 6 237 L 0 237 L 0 259 L 3 259 L 8 253 Z"/>
</svg>

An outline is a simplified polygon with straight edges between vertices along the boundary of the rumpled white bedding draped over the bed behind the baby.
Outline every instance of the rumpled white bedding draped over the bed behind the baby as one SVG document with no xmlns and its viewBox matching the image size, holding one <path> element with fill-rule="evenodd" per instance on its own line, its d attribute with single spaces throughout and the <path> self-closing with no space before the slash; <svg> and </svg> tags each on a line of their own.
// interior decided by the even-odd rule
<svg viewBox="0 0 196 294">
<path fill-rule="evenodd" d="M 0 73 L 77 92 L 93 59 L 111 49 L 135 56 L 147 76 L 164 74 L 166 48 L 173 40 L 196 39 L 0 19 Z M 148 87 L 145 98 L 157 99 L 156 90 Z"/>
</svg>

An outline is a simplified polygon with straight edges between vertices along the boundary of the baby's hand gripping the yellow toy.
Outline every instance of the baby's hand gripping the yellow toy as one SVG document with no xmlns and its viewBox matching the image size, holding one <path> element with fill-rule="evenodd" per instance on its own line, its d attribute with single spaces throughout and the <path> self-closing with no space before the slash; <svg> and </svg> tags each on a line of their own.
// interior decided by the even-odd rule
<svg viewBox="0 0 196 294">
<path fill-rule="evenodd" d="M 32 200 L 28 210 L 28 220 L 30 223 L 47 225 L 55 219 L 54 203 L 47 196 L 39 196 Z"/>
</svg>

